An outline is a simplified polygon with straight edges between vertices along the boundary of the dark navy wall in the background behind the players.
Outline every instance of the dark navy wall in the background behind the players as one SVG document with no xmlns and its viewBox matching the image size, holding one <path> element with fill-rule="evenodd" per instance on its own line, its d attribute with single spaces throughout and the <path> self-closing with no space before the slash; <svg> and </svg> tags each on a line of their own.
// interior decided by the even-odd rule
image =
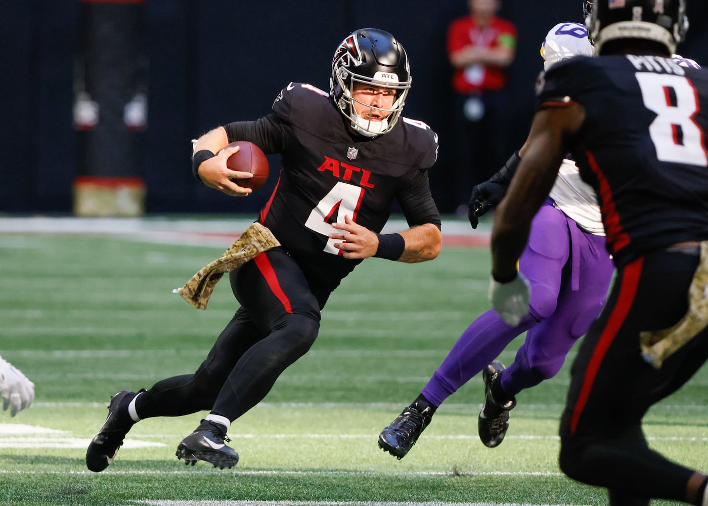
<svg viewBox="0 0 708 506">
<path fill-rule="evenodd" d="M 692 28 L 682 47 L 708 64 L 708 6 L 689 1 Z M 78 2 L 3 2 L 0 47 L 0 212 L 68 213 L 77 175 L 72 128 L 73 62 Z M 443 212 L 446 174 L 454 163 L 447 139 L 450 67 L 445 31 L 467 11 L 465 0 L 374 0 L 282 2 L 260 0 L 147 1 L 149 118 L 144 136 L 148 212 L 253 211 L 269 188 L 247 199 L 206 189 L 190 174 L 190 139 L 232 120 L 252 120 L 270 111 L 289 81 L 328 89 L 336 45 L 355 28 L 388 30 L 406 47 L 413 89 L 406 116 L 426 121 L 440 135 L 440 160 L 430 174 Z M 533 113 L 533 84 L 541 68 L 538 49 L 559 21 L 581 21 L 581 0 L 503 2 L 504 17 L 519 30 L 511 89 L 514 144 L 525 139 Z M 271 169 L 279 169 L 277 157 Z M 272 187 L 274 181 L 271 182 Z"/>
</svg>

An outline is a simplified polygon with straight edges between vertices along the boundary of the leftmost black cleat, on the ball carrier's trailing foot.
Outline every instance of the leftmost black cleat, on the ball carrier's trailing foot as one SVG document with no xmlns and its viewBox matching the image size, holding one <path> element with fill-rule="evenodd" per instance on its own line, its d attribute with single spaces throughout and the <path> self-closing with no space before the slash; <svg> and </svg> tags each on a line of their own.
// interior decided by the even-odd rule
<svg viewBox="0 0 708 506">
<path fill-rule="evenodd" d="M 110 466 L 115 459 L 125 434 L 135 425 L 127 410 L 128 404 L 135 395 L 137 393 L 131 390 L 121 390 L 110 396 L 108 417 L 105 418 L 103 427 L 93 436 L 89 448 L 86 449 L 86 467 L 89 470 L 99 473 Z"/>
</svg>

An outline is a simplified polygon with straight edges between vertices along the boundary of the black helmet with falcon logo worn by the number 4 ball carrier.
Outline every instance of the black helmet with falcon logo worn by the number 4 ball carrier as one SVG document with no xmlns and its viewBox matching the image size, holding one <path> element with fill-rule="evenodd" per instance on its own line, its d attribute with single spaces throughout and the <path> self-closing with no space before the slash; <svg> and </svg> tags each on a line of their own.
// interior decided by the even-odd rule
<svg viewBox="0 0 708 506">
<path fill-rule="evenodd" d="M 365 120 L 353 105 L 355 83 L 373 84 L 396 91 L 389 113 L 382 121 Z M 355 30 L 337 47 L 332 60 L 329 93 L 341 113 L 351 120 L 351 127 L 362 135 L 373 137 L 390 132 L 403 111 L 411 89 L 411 67 L 406 50 L 393 35 L 376 28 Z"/>
</svg>

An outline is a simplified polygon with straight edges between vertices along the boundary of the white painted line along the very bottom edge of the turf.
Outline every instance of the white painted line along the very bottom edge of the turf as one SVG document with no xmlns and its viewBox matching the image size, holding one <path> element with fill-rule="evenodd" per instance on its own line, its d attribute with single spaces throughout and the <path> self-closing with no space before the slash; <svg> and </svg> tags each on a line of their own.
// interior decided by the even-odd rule
<svg viewBox="0 0 708 506">
<path fill-rule="evenodd" d="M 571 506 L 571 505 L 530 505 L 525 502 L 379 502 L 379 501 L 258 501 L 258 500 L 166 500 L 140 499 L 132 500 L 137 504 L 149 506 Z"/>
</svg>

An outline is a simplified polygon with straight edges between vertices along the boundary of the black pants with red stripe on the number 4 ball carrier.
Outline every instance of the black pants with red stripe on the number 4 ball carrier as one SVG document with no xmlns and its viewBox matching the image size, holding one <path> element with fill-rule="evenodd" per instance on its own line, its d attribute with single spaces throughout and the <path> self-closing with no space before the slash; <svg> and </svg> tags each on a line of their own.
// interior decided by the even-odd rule
<svg viewBox="0 0 708 506">
<path fill-rule="evenodd" d="M 241 308 L 195 373 L 158 381 L 138 398 L 139 417 L 210 410 L 236 420 L 314 343 L 330 291 L 314 293 L 282 248 L 259 254 L 229 279 Z"/>
</svg>

